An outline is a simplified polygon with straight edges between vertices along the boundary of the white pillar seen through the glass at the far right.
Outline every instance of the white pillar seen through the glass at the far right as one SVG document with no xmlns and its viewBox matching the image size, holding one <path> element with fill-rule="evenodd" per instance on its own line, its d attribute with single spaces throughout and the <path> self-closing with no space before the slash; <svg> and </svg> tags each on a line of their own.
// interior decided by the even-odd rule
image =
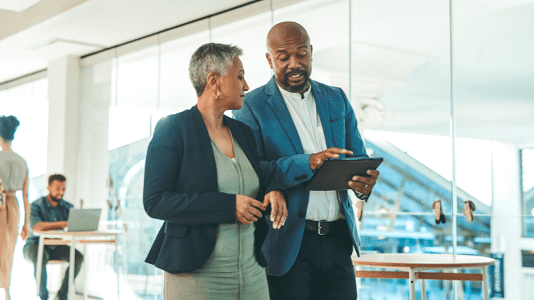
<svg viewBox="0 0 534 300">
<path fill-rule="evenodd" d="M 492 251 L 504 253 L 504 299 L 523 299 L 519 149 L 492 142 Z"/>
</svg>

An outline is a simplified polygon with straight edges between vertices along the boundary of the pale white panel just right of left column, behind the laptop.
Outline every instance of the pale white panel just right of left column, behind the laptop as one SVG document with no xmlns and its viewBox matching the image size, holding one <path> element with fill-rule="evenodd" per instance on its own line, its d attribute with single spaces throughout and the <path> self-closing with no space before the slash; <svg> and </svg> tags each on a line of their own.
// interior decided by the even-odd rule
<svg viewBox="0 0 534 300">
<path fill-rule="evenodd" d="M 104 228 L 106 224 L 102 221 L 107 220 L 108 213 L 106 179 L 109 176 L 108 131 L 109 106 L 112 96 L 112 66 L 111 59 L 103 63 L 82 65 L 80 74 L 80 147 L 76 190 L 78 199 L 83 199 L 83 208 L 102 208 L 100 226 Z M 88 251 L 85 261 L 93 263 L 83 263 L 81 272 L 88 274 L 85 280 L 88 285 L 83 288 L 86 288 L 87 293 L 93 297 L 106 298 L 109 293 L 101 287 L 108 277 L 97 278 L 95 276 L 105 274 L 106 252 Z M 88 270 L 86 271 L 85 268 Z M 78 281 L 78 283 L 82 284 L 83 281 Z M 79 286 L 77 290 L 83 288 Z"/>
</svg>

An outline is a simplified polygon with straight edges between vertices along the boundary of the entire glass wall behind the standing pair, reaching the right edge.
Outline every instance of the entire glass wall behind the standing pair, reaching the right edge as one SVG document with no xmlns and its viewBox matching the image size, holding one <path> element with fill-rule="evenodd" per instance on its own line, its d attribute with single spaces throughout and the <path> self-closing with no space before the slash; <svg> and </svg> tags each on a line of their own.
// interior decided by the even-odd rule
<svg viewBox="0 0 534 300">
<path fill-rule="evenodd" d="M 209 41 L 238 45 L 253 90 L 272 76 L 268 30 L 295 21 L 314 46 L 312 79 L 343 88 L 368 153 L 385 158 L 359 222 L 362 253 L 501 253 L 505 296 L 528 299 L 519 285 L 534 273 L 524 263 L 534 249 L 533 151 L 525 149 L 534 144 L 534 2 L 292 3 L 254 3 L 85 59 L 83 101 L 99 103 L 88 106 L 108 118 L 98 126 L 108 141 L 108 221 L 124 228 L 121 292 L 162 299 L 161 270 L 144 263 L 161 226 L 143 209 L 145 154 L 156 122 L 196 103 L 191 54 Z M 436 222 L 435 201 L 446 222 Z M 464 212 L 468 201 L 473 212 Z M 106 265 L 113 270 L 112 256 Z M 406 299 L 409 291 L 405 280 L 358 285 L 359 299 Z M 480 282 L 426 286 L 427 299 L 482 299 Z"/>
</svg>

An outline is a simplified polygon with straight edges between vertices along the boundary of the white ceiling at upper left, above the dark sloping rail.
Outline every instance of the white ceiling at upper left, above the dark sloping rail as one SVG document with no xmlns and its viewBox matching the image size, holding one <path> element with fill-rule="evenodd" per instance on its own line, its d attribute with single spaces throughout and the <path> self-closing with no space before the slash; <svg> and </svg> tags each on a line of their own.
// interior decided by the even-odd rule
<svg viewBox="0 0 534 300">
<path fill-rule="evenodd" d="M 0 83 L 248 2 L 0 0 Z"/>
</svg>

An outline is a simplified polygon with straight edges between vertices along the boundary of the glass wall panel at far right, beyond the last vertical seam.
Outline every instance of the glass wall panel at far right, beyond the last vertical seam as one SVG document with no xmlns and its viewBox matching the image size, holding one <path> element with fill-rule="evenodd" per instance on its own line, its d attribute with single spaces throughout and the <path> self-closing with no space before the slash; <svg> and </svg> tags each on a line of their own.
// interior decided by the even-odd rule
<svg viewBox="0 0 534 300">
<path fill-rule="evenodd" d="M 451 3 L 455 174 L 459 188 L 469 186 L 469 197 L 458 199 L 457 222 L 471 229 L 459 229 L 458 245 L 503 256 L 504 297 L 529 299 L 524 286 L 532 269 L 522 261 L 528 240 L 521 240 L 521 222 L 530 217 L 521 216 L 520 149 L 533 143 L 534 1 Z M 476 204 L 472 222 L 461 200 Z M 489 239 L 477 242 L 489 223 Z"/>
</svg>

